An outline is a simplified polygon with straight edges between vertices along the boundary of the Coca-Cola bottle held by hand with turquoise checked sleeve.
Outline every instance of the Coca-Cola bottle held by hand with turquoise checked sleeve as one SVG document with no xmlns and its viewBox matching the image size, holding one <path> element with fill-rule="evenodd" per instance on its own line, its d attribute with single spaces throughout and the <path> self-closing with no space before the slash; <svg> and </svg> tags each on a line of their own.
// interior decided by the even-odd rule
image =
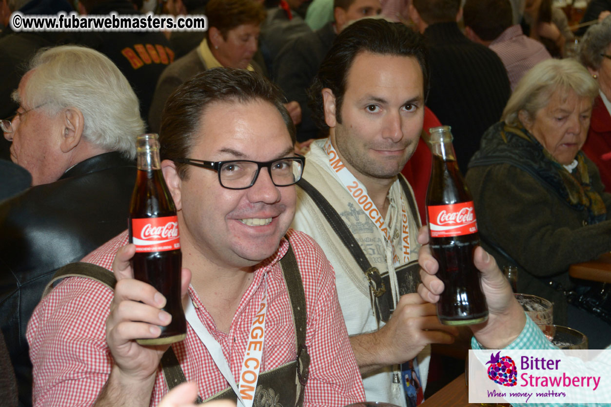
<svg viewBox="0 0 611 407">
<path fill-rule="evenodd" d="M 481 292 L 480 271 L 473 255 L 480 244 L 473 198 L 456 163 L 449 126 L 429 129 L 431 180 L 426 191 L 426 218 L 430 248 L 439 263 L 437 277 L 444 292 L 437 303 L 437 317 L 445 325 L 472 325 L 488 319 Z"/>
</svg>

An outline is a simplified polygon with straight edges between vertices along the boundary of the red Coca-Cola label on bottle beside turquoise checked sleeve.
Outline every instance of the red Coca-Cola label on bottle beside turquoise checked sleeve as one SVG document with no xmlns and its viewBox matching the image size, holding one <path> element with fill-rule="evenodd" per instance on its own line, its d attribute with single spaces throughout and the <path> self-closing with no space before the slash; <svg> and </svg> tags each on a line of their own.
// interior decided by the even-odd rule
<svg viewBox="0 0 611 407">
<path fill-rule="evenodd" d="M 470 235 L 477 232 L 473 201 L 452 205 L 434 205 L 428 210 L 431 237 Z"/>
</svg>

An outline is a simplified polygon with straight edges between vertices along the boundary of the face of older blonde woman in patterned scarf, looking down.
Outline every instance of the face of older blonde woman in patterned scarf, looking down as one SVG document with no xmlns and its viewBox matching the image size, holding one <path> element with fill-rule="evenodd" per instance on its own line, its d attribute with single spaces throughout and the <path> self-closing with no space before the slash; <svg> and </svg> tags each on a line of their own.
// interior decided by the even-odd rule
<svg viewBox="0 0 611 407">
<path fill-rule="evenodd" d="M 533 119 L 525 111 L 519 113 L 519 118 L 558 163 L 568 165 L 584 145 L 591 111 L 590 98 L 580 97 L 574 90 L 556 90 Z"/>
</svg>

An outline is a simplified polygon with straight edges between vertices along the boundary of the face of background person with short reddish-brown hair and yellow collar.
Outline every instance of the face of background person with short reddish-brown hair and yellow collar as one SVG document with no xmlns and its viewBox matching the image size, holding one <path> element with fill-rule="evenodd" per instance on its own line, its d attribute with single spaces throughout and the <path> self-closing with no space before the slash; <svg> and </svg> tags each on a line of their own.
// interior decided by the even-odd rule
<svg viewBox="0 0 611 407">
<path fill-rule="evenodd" d="M 257 52 L 259 32 L 258 25 L 241 24 L 229 30 L 226 39 L 219 33 L 214 39 L 214 45 L 219 47 L 212 50 L 214 57 L 224 67 L 246 69 Z"/>
</svg>

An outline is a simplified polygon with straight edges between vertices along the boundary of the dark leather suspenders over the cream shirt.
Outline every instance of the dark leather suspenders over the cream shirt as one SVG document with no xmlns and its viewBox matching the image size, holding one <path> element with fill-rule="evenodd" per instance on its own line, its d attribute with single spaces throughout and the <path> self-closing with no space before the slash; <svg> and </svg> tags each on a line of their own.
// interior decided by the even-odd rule
<svg viewBox="0 0 611 407">
<path fill-rule="evenodd" d="M 409 190 L 407 182 L 399 175 L 399 182 L 401 184 L 401 188 L 403 189 L 403 193 L 408 199 L 409 209 L 412 211 L 412 215 L 414 219 L 416 219 L 417 226 L 420 228 L 420 222 L 418 221 L 417 209 L 415 206 L 414 199 L 412 198 L 411 191 Z M 318 191 L 312 184 L 307 182 L 305 178 L 301 178 L 297 183 L 307 193 L 310 198 L 314 201 L 318 210 L 321 211 L 324 218 L 327 219 L 329 225 L 334 230 L 335 234 L 342 241 L 343 245 L 348 249 L 354 261 L 359 265 L 360 269 L 367 277 L 367 281 L 369 282 L 370 289 L 370 297 L 373 300 L 373 312 L 376 317 L 376 320 L 379 321 L 388 321 L 390 318 L 390 310 L 392 304 L 392 298 L 390 293 L 386 290 L 386 285 L 384 281 L 382 281 L 382 276 L 379 273 L 379 270 L 376 267 L 371 266 L 371 263 L 367 259 L 367 255 L 363 252 L 363 249 L 360 248 L 359 243 L 354 238 L 350 229 L 346 225 L 346 222 L 343 221 L 342 217 L 337 213 L 337 211 L 332 207 L 329 201 L 323 196 L 323 194 Z"/>
</svg>

